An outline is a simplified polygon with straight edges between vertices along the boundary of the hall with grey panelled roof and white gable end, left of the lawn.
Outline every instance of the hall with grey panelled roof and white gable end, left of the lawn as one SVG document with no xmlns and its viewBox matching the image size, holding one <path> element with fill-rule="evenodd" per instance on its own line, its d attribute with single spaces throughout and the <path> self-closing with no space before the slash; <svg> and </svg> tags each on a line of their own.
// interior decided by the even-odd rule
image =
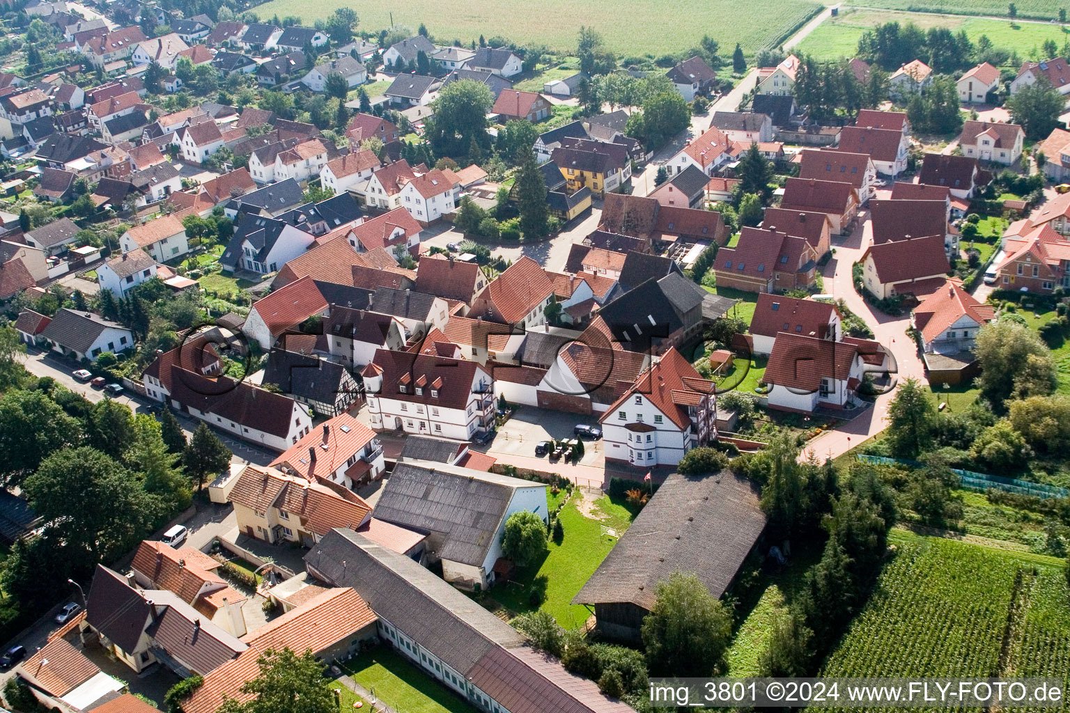
<svg viewBox="0 0 1070 713">
<path fill-rule="evenodd" d="M 528 511 L 549 522 L 547 484 L 437 461 L 395 466 L 376 502 L 376 517 L 429 532 L 428 556 L 442 578 L 461 589 L 486 589 L 496 578 L 505 523 Z"/>
</svg>

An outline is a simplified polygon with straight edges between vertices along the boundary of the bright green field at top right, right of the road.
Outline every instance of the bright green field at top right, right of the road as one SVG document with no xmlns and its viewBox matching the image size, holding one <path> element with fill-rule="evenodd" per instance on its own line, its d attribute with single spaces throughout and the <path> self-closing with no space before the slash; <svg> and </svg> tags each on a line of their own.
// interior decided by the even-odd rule
<svg viewBox="0 0 1070 713">
<path fill-rule="evenodd" d="M 893 0 L 892 0 L 893 1 Z M 1054 12 L 1054 4 L 1052 5 Z M 1007 11 L 1007 6 L 1003 6 Z M 1019 12 L 1023 12 L 1019 9 Z M 877 10 L 850 9 L 841 10 L 839 16 L 830 17 L 822 22 L 813 32 L 806 36 L 796 51 L 812 55 L 815 59 L 835 60 L 854 57 L 858 47 L 858 38 L 866 30 L 882 22 L 891 20 L 900 24 L 914 22 L 928 30 L 932 27 L 943 27 L 959 32 L 965 30 L 973 42 L 982 34 L 992 44 L 1007 51 L 1017 51 L 1022 59 L 1030 57 L 1045 40 L 1054 40 L 1059 47 L 1070 38 L 1063 26 L 1043 22 L 1010 22 L 980 17 L 962 17 L 948 15 L 932 15 L 926 13 L 889 13 Z"/>
</svg>

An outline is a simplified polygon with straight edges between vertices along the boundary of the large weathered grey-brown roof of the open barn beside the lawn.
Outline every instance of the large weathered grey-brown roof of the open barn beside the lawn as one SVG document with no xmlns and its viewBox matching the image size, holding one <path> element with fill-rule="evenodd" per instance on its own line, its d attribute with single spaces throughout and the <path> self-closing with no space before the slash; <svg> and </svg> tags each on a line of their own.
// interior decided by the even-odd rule
<svg viewBox="0 0 1070 713">
<path fill-rule="evenodd" d="M 574 604 L 630 602 L 652 609 L 658 582 L 691 572 L 720 598 L 765 527 L 758 494 L 724 470 L 673 474 L 643 507 Z"/>
</svg>

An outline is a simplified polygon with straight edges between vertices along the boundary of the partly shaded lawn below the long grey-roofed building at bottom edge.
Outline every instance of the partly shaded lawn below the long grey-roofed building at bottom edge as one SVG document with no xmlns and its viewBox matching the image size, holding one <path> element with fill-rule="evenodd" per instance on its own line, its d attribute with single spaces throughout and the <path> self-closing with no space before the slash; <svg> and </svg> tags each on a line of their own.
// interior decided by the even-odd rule
<svg viewBox="0 0 1070 713">
<path fill-rule="evenodd" d="M 339 666 L 395 711 L 476 713 L 474 708 L 386 647 L 376 647 Z"/>
</svg>

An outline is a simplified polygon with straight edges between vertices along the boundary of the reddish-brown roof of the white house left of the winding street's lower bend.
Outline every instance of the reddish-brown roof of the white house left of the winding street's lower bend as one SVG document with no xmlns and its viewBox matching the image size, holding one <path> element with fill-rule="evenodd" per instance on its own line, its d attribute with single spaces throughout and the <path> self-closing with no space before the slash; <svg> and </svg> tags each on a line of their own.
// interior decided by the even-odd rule
<svg viewBox="0 0 1070 713">
<path fill-rule="evenodd" d="M 858 345 L 852 342 L 782 331 L 773 343 L 765 381 L 812 392 L 822 378 L 845 381 L 858 358 Z"/>
</svg>

